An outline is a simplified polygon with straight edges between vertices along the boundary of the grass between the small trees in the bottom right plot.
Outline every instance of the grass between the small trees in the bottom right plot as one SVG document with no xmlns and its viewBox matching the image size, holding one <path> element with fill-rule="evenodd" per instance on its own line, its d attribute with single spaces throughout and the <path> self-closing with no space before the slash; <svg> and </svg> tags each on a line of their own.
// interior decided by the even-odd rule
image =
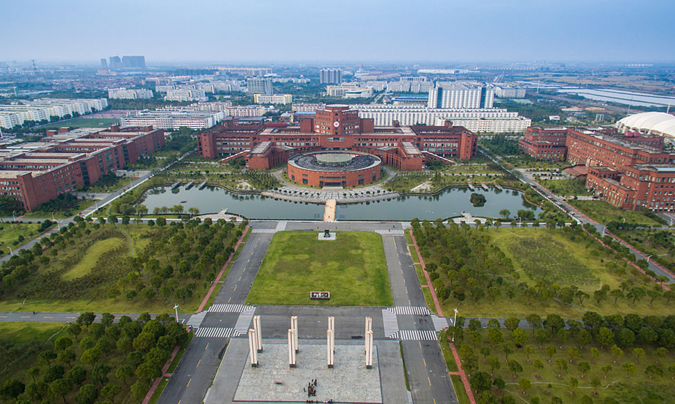
<svg viewBox="0 0 675 404">
<path fill-rule="evenodd" d="M 557 396 L 562 398 L 562 403 L 576 404 L 583 403 L 581 401 L 583 396 L 591 396 L 592 403 L 604 403 L 606 402 L 604 401 L 606 397 L 610 396 L 617 399 L 619 395 L 626 394 L 624 389 L 629 389 L 632 390 L 631 394 L 635 396 L 641 396 L 641 392 L 646 390 L 653 390 L 653 392 L 656 392 L 656 396 L 652 393 L 650 401 L 644 401 L 644 399 L 635 400 L 633 398 L 631 400 L 618 401 L 619 403 L 673 403 L 675 401 L 672 380 L 669 372 L 666 371 L 675 360 L 672 350 L 664 358 L 659 359 L 655 354 L 656 349 L 650 346 L 640 346 L 644 349 L 646 355 L 638 359 L 632 353 L 635 346 L 630 346 L 626 347 L 624 355 L 617 359 L 612 355 L 611 349 L 601 349 L 597 344 L 587 344 L 583 346 L 583 349 L 580 349 L 578 341 L 575 338 L 570 338 L 566 342 L 561 342 L 560 339 L 554 338 L 549 342 L 545 342 L 543 346 L 540 346 L 531 336 L 531 333 L 528 332 L 526 334 L 529 340 L 526 342 L 526 345 L 533 346 L 533 353 L 529 355 L 528 360 L 525 350 L 513 344 L 510 333 L 503 329 L 501 331 L 504 335 L 504 342 L 512 347 L 512 353 L 508 355 L 508 360 L 506 360 L 506 355 L 503 353 L 501 346 L 494 346 L 488 342 L 487 329 L 485 328 L 480 331 L 482 339 L 478 344 L 469 344 L 467 330 L 465 330 L 466 336 L 462 343 L 472 345 L 474 354 L 478 356 L 478 360 L 476 360 L 478 365 L 477 370 L 485 371 L 487 374 L 494 374 L 494 378 L 501 378 L 506 382 L 506 390 L 510 393 L 505 392 L 503 394 L 515 394 L 523 397 L 527 402 L 533 402 L 534 397 L 539 397 L 541 403 L 551 403 L 551 398 Z M 550 361 L 545 349 L 545 346 L 549 344 L 556 349 Z M 458 349 L 461 349 L 461 344 L 457 340 L 456 345 Z M 480 351 L 483 348 L 489 350 L 488 357 L 497 358 L 497 362 L 500 364 L 498 369 L 496 368 L 493 371 L 490 365 L 487 365 Z M 578 357 L 569 356 L 569 349 L 572 348 L 578 350 Z M 599 353 L 597 357 L 591 354 L 591 348 L 597 348 Z M 566 368 L 563 367 L 562 370 L 556 365 L 556 359 L 559 358 L 564 360 L 566 365 Z M 462 361 L 464 360 L 465 358 L 462 358 Z M 522 367 L 522 370 L 515 374 L 516 376 L 514 376 L 514 372 L 510 369 L 510 365 L 513 365 L 513 362 L 517 362 Z M 535 367 L 535 362 L 540 367 Z M 581 362 L 586 362 L 590 365 L 590 369 L 585 374 L 582 374 L 578 367 L 578 364 Z M 635 363 L 636 369 L 634 374 L 628 374 L 624 371 L 623 365 L 626 362 L 637 362 Z M 645 370 L 649 365 L 660 367 L 664 371 L 664 376 L 649 378 L 649 375 L 645 374 Z M 611 370 L 607 372 L 607 376 L 601 371 L 606 366 L 611 367 Z M 527 378 L 532 383 L 531 388 L 527 390 L 525 396 L 522 395 L 518 386 L 520 378 Z M 576 379 L 578 386 L 573 387 L 570 382 L 571 378 Z M 593 387 L 592 380 L 594 379 L 597 381 L 598 387 Z M 458 385 L 455 388 L 459 390 Z M 493 387 L 492 392 L 496 391 Z"/>
</svg>

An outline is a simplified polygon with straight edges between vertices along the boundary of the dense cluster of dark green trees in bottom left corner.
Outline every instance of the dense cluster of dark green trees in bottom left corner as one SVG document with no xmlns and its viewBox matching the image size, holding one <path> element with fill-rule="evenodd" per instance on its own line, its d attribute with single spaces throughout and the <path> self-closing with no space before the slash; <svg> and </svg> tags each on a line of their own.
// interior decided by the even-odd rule
<svg viewBox="0 0 675 404">
<path fill-rule="evenodd" d="M 140 401 L 176 345 L 185 346 L 185 328 L 169 315 L 136 320 L 103 313 L 82 313 L 60 336 L 26 360 L 33 365 L 22 376 L 3 380 L 0 395 L 22 403 L 115 404 L 131 396 Z"/>
</svg>

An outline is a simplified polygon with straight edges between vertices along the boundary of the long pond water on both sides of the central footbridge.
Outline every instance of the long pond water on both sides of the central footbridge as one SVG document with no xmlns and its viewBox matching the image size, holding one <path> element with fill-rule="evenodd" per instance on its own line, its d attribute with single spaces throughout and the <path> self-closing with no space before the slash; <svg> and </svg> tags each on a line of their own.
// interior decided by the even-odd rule
<svg viewBox="0 0 675 404">
<path fill-rule="evenodd" d="M 192 187 L 185 190 L 179 186 L 167 192 L 168 186 L 153 188 L 145 194 L 144 204 L 152 212 L 155 208 L 172 207 L 185 202 L 185 211 L 196 207 L 201 213 L 215 213 L 227 209 L 229 213 L 238 213 L 251 219 L 291 219 L 320 220 L 324 216 L 324 206 L 308 202 L 275 200 L 263 195 L 237 195 L 222 188 L 207 186 L 201 190 Z M 487 201 L 483 207 L 474 207 L 469 202 L 472 192 L 485 195 Z M 476 188 L 452 188 L 433 196 L 404 196 L 391 200 L 360 202 L 356 204 L 338 204 L 338 220 L 435 220 L 460 216 L 466 211 L 473 216 L 499 217 L 501 209 L 508 209 L 512 216 L 519 209 L 533 209 L 539 214 L 541 209 L 524 202 L 519 191 L 490 191 Z"/>
</svg>

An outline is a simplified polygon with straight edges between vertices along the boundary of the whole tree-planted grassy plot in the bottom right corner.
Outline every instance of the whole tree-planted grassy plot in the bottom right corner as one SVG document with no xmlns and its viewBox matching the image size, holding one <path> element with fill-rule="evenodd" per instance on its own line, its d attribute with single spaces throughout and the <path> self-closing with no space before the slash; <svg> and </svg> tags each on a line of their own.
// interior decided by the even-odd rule
<svg viewBox="0 0 675 404">
<path fill-rule="evenodd" d="M 672 403 L 675 401 L 675 317 L 587 315 L 584 324 L 558 315 L 487 328 L 458 319 L 462 369 L 479 403 Z M 467 328 L 461 328 L 465 326 Z M 505 329 L 506 328 L 506 329 Z M 447 360 L 451 355 L 444 350 Z"/>
</svg>

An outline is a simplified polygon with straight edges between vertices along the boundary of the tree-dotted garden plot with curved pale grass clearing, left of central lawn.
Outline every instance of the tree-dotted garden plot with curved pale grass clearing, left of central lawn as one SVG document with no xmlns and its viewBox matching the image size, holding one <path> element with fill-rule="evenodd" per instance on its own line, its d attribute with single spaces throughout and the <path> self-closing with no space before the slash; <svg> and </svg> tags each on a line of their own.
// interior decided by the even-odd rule
<svg viewBox="0 0 675 404">
<path fill-rule="evenodd" d="M 192 313 L 244 225 L 79 220 L 0 267 L 0 310 Z"/>
</svg>

